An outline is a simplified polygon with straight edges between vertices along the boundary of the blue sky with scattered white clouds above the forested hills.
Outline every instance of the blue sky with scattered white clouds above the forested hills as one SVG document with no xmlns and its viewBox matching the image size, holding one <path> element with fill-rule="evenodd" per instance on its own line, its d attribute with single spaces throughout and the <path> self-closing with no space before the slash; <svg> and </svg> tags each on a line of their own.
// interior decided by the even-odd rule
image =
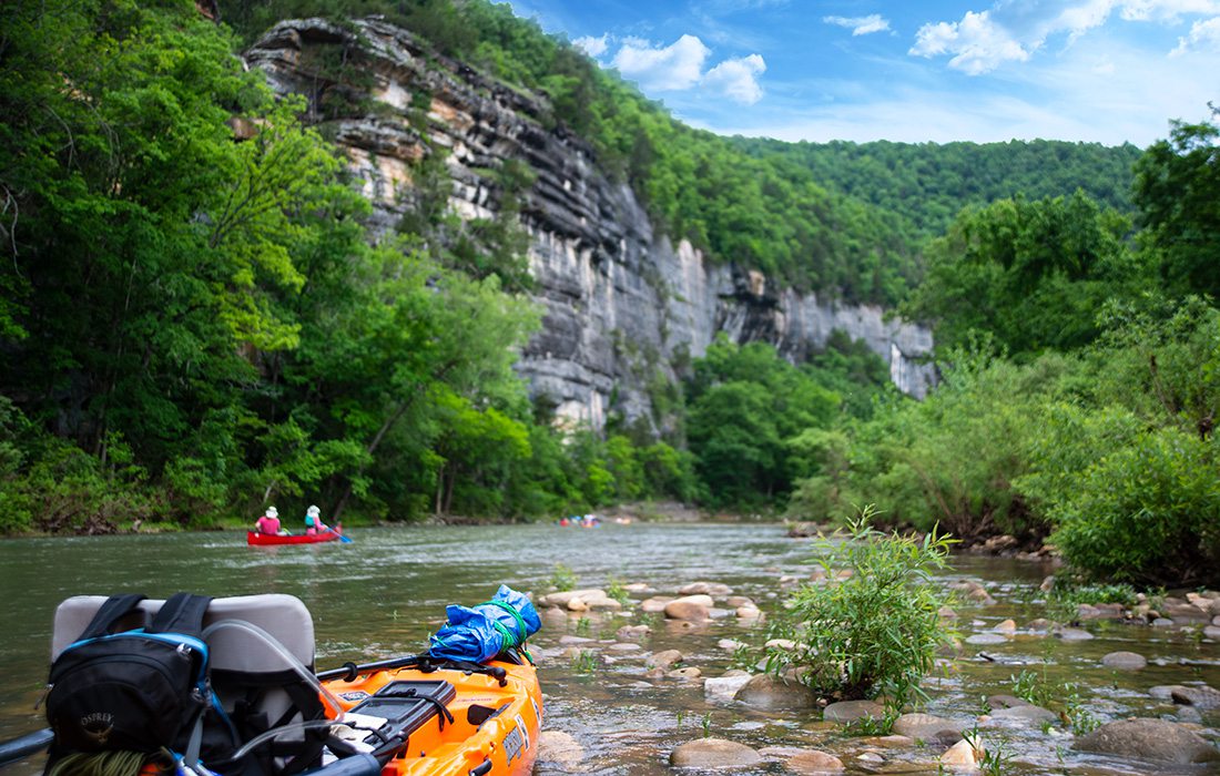
<svg viewBox="0 0 1220 776">
<path fill-rule="evenodd" d="M 1146 146 L 1220 106 L 1220 0 L 512 0 L 689 124 Z"/>
</svg>

